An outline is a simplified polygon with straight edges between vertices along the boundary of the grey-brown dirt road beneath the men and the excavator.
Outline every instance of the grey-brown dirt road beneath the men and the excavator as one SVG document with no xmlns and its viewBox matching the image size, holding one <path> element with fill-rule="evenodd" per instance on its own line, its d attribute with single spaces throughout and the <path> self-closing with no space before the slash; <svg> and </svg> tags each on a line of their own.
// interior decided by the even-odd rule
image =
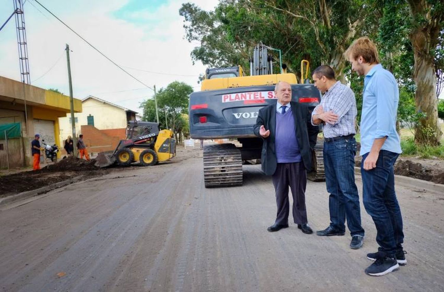
<svg viewBox="0 0 444 292">
<path fill-rule="evenodd" d="M 444 291 L 444 194 L 397 187 L 408 264 L 371 277 L 376 231 L 363 207 L 362 249 L 349 248 L 349 234 L 318 237 L 294 224 L 269 233 L 270 177 L 246 165 L 242 187 L 205 189 L 199 155 L 3 207 L 1 291 Z M 309 224 L 325 228 L 325 183 L 309 182 L 306 199 Z"/>
</svg>

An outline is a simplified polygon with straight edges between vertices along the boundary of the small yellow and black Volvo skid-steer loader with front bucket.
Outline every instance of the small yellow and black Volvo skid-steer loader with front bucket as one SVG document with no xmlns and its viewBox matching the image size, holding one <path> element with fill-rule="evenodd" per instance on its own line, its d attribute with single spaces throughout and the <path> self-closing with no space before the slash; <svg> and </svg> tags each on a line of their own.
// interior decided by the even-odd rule
<svg viewBox="0 0 444 292">
<path fill-rule="evenodd" d="M 113 152 L 100 152 L 95 166 L 121 166 L 140 162 L 143 166 L 155 165 L 176 156 L 176 140 L 170 130 L 160 130 L 158 123 L 130 121 L 127 139 L 120 140 Z"/>
</svg>

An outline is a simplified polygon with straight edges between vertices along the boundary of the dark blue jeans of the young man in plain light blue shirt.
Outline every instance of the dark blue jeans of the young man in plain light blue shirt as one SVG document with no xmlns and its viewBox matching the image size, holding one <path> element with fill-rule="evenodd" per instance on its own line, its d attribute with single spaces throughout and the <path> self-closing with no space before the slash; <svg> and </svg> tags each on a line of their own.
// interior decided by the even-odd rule
<svg viewBox="0 0 444 292">
<path fill-rule="evenodd" d="M 396 199 L 393 173 L 393 165 L 399 154 L 381 150 L 376 167 L 364 170 L 364 160 L 368 154 L 362 156 L 361 164 L 365 210 L 375 222 L 379 251 L 388 257 L 395 257 L 396 251 L 402 250 L 404 242 L 401 210 Z"/>
</svg>

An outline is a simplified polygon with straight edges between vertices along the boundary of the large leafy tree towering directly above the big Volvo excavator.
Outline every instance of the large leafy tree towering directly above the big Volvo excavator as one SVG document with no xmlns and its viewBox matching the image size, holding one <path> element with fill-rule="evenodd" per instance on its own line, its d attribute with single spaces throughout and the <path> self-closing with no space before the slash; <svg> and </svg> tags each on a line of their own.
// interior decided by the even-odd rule
<svg viewBox="0 0 444 292">
<path fill-rule="evenodd" d="M 343 52 L 355 35 L 371 30 L 371 0 L 238 0 L 221 1 L 214 12 L 183 4 L 186 37 L 199 41 L 191 56 L 210 66 L 248 66 L 250 51 L 260 41 L 281 49 L 290 70 L 300 70 L 302 59 L 329 64 L 343 79 Z"/>
</svg>

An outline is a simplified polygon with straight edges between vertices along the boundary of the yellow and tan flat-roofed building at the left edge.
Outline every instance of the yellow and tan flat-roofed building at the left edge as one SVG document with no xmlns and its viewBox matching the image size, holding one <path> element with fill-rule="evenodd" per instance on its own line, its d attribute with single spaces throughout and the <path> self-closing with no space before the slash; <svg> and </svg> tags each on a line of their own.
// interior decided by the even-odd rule
<svg viewBox="0 0 444 292">
<path fill-rule="evenodd" d="M 63 148 L 59 117 L 66 117 L 70 111 L 68 96 L 0 76 L 0 125 L 20 123 L 21 126 L 20 138 L 0 140 L 0 167 L 30 165 L 30 143 L 36 133 L 45 143 Z M 74 99 L 74 112 L 81 111 L 82 102 Z"/>
</svg>

